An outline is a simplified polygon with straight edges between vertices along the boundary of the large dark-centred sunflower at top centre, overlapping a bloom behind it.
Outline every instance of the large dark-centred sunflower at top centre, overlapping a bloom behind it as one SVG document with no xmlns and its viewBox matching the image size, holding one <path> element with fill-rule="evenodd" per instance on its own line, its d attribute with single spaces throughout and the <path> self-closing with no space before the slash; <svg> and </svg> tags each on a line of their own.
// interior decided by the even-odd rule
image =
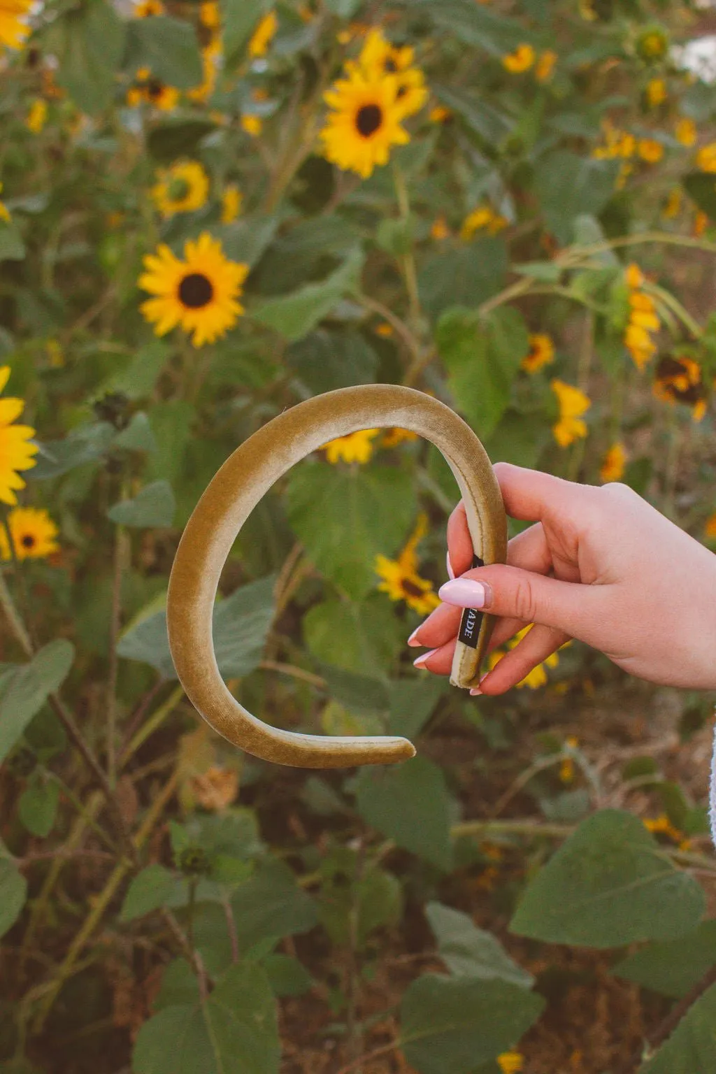
<svg viewBox="0 0 716 1074">
<path fill-rule="evenodd" d="M 410 141 L 400 127 L 405 112 L 397 95 L 395 75 L 366 75 L 357 67 L 334 83 L 323 95 L 333 108 L 320 132 L 326 159 L 364 179 L 376 164 L 385 164 L 392 145 Z"/>
</svg>

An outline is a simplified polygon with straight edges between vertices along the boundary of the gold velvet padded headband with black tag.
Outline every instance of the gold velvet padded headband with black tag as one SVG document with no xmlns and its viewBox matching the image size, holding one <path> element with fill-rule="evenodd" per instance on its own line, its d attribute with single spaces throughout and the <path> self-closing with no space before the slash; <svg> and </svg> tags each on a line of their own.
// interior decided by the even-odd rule
<svg viewBox="0 0 716 1074">
<path fill-rule="evenodd" d="M 415 753 L 404 738 L 302 735 L 252 716 L 227 688 L 214 653 L 211 614 L 221 569 L 247 518 L 274 482 L 328 440 L 363 429 L 407 429 L 430 440 L 455 475 L 472 538 L 473 566 L 505 563 L 507 518 L 482 444 L 458 415 L 424 392 L 357 384 L 324 392 L 257 430 L 209 482 L 181 535 L 169 581 L 166 623 L 174 666 L 196 711 L 247 753 L 298 768 L 385 765 Z M 450 682 L 479 682 L 494 618 L 466 608 Z"/>
</svg>

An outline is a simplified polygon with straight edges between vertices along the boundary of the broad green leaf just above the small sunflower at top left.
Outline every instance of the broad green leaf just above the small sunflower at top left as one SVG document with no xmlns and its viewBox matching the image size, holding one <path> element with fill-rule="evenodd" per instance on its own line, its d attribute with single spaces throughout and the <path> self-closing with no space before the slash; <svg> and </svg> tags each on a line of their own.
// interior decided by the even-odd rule
<svg viewBox="0 0 716 1074">
<path fill-rule="evenodd" d="M 127 24 L 125 68 L 148 67 L 155 78 L 177 89 L 203 79 L 202 57 L 190 23 L 169 15 L 133 18 Z"/>
</svg>

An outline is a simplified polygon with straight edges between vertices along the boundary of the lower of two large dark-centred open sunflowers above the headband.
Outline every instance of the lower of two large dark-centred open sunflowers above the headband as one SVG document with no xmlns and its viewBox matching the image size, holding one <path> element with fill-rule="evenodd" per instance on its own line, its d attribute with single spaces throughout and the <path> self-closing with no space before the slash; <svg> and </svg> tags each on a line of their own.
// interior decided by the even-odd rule
<svg viewBox="0 0 716 1074">
<path fill-rule="evenodd" d="M 249 266 L 230 261 L 221 243 L 202 232 L 184 245 L 180 261 L 164 243 L 144 258 L 146 272 L 138 286 L 155 297 L 142 303 L 155 333 L 164 335 L 177 324 L 193 333 L 194 347 L 214 343 L 235 324 L 244 307 L 236 301 Z"/>
</svg>

